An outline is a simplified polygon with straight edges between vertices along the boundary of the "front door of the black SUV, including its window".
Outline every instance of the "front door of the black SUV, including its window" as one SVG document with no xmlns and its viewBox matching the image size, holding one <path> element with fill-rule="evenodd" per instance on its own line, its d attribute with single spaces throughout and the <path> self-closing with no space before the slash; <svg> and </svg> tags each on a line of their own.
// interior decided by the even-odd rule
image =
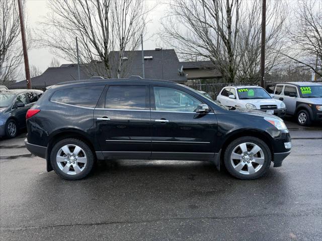
<svg viewBox="0 0 322 241">
<path fill-rule="evenodd" d="M 202 103 L 175 87 L 150 86 L 152 157 L 212 158 L 217 119 L 213 111 L 195 112 Z"/>
</svg>

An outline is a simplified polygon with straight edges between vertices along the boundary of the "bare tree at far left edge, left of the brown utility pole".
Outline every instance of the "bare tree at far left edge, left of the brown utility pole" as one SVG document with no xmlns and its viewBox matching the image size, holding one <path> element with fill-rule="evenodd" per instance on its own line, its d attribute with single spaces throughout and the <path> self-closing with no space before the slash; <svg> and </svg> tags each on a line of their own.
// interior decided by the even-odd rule
<svg viewBox="0 0 322 241">
<path fill-rule="evenodd" d="M 16 80 L 22 63 L 17 1 L 0 0 L 0 84 Z"/>
</svg>

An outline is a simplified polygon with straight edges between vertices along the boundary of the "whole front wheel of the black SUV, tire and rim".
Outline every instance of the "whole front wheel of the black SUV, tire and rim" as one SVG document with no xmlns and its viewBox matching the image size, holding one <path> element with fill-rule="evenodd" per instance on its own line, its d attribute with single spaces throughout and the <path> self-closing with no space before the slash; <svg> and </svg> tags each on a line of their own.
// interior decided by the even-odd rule
<svg viewBox="0 0 322 241">
<path fill-rule="evenodd" d="M 256 179 L 270 167 L 272 155 L 269 147 L 255 137 L 241 137 L 231 142 L 224 154 L 227 171 L 243 180 Z"/>
</svg>

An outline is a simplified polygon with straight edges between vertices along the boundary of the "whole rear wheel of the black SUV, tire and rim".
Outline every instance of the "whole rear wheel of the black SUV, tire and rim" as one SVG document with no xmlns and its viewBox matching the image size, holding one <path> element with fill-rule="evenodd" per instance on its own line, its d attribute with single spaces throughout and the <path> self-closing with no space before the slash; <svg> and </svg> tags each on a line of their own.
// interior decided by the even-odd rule
<svg viewBox="0 0 322 241">
<path fill-rule="evenodd" d="M 54 145 L 50 160 L 59 176 L 67 180 L 78 180 L 92 171 L 94 154 L 85 142 L 68 138 Z"/>
</svg>

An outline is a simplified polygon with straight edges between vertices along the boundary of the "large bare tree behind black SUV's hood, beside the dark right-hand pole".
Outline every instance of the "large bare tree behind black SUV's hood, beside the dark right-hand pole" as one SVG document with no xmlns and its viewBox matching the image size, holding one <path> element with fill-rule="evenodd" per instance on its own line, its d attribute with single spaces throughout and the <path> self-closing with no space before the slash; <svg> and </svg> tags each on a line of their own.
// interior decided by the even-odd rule
<svg viewBox="0 0 322 241">
<path fill-rule="evenodd" d="M 259 0 L 174 0 L 169 5 L 160 32 L 166 43 L 184 55 L 211 60 L 226 82 L 254 80 L 261 48 Z M 275 1 L 268 8 L 270 46 L 276 44 L 285 21 L 279 7 Z M 268 59 L 274 62 L 273 56 Z"/>
</svg>

